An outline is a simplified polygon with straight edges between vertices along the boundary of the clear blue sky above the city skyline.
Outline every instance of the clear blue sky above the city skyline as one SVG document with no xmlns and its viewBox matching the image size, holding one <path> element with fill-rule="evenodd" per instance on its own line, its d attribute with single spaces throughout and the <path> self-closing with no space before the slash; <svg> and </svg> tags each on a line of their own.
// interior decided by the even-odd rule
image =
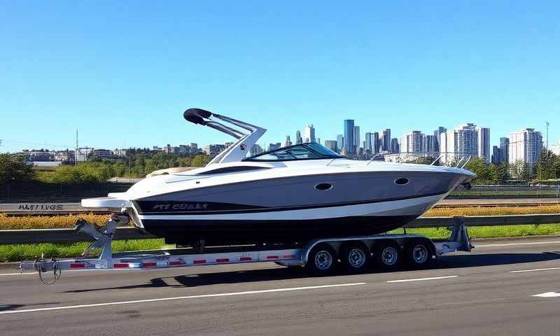
<svg viewBox="0 0 560 336">
<path fill-rule="evenodd" d="M 156 1 L 157 2 L 157 1 Z M 151 147 L 230 138 L 198 107 L 265 127 L 534 127 L 560 139 L 560 1 L 0 0 L 0 146 Z M 304 3 L 303 3 L 304 2 Z"/>
</svg>

